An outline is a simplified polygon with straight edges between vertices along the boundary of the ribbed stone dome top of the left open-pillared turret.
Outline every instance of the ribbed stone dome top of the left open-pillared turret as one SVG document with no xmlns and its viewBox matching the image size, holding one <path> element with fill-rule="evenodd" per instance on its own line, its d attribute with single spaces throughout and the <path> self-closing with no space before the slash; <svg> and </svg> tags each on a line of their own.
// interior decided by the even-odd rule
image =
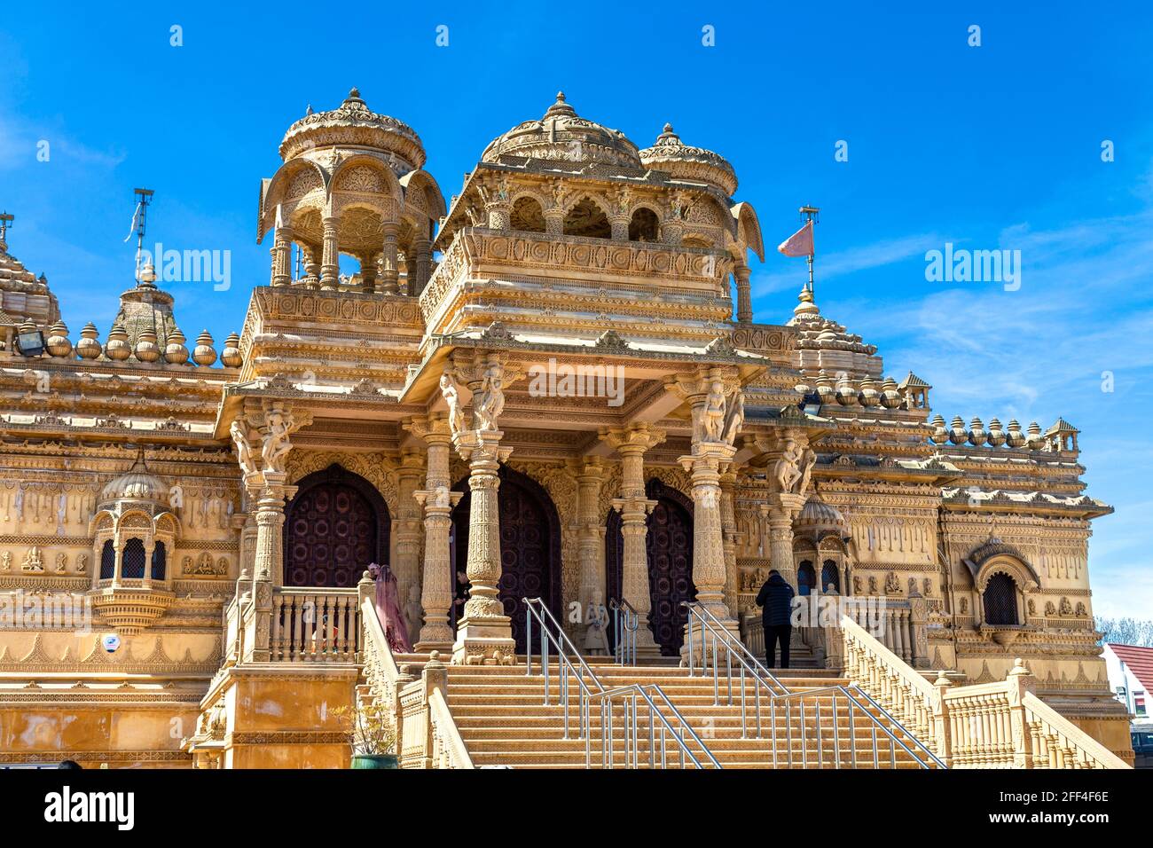
<svg viewBox="0 0 1153 848">
<path fill-rule="evenodd" d="M 285 162 L 316 148 L 336 145 L 375 148 L 395 153 L 409 171 L 424 165 L 424 145 L 416 130 L 395 118 L 372 112 L 353 89 L 339 108 L 312 112 L 288 127 L 280 142 Z"/>
</svg>

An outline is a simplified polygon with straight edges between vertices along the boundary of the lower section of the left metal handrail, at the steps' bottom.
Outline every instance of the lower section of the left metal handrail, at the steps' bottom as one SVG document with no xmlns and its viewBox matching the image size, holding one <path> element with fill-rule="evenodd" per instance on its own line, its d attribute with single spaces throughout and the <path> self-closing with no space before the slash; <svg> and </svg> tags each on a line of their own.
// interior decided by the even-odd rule
<svg viewBox="0 0 1153 848">
<path fill-rule="evenodd" d="M 669 718 L 661 712 L 661 707 L 653 699 L 656 696 L 664 703 L 664 706 L 672 713 L 676 718 L 678 727 L 673 727 Z M 713 765 L 714 768 L 721 768 L 721 763 L 716 757 L 713 756 L 713 751 L 708 749 L 708 745 L 701 741 L 701 737 L 696 735 L 692 726 L 685 721 L 685 716 L 680 714 L 680 711 L 673 706 L 672 701 L 669 700 L 669 696 L 664 693 L 656 683 L 649 683 L 647 685 L 640 685 L 638 683 L 630 683 L 624 686 L 617 686 L 615 689 L 609 689 L 603 692 L 597 692 L 593 696 L 593 700 L 600 700 L 601 703 L 601 767 L 612 768 L 615 761 L 616 751 L 613 750 L 613 735 L 612 735 L 612 701 L 613 699 L 620 699 L 624 707 L 624 719 L 625 719 L 625 768 L 630 767 L 632 763 L 633 768 L 640 767 L 640 741 L 641 741 L 641 712 L 638 711 L 636 699 L 640 698 L 643 701 L 643 706 L 648 707 L 648 752 L 649 752 L 649 768 L 657 767 L 656 751 L 657 751 L 657 721 L 660 721 L 661 728 L 661 768 L 669 767 L 669 738 L 671 737 L 676 742 L 677 752 L 680 757 L 680 767 L 685 767 L 685 758 L 693 764 L 695 768 L 703 768 L 701 759 L 693 753 L 688 743 L 685 742 L 685 734 L 687 733 L 689 738 L 696 743 L 700 748 L 701 753 L 704 758 Z M 589 746 L 585 748 L 585 767 L 591 768 L 591 751 Z"/>
</svg>

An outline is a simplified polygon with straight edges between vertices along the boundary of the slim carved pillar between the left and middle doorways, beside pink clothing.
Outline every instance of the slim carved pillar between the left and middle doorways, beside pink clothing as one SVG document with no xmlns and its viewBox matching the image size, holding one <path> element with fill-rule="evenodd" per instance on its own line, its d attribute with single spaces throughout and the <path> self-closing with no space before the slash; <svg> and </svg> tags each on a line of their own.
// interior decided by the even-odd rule
<svg viewBox="0 0 1153 848">
<path fill-rule="evenodd" d="M 449 532 L 452 528 L 452 509 L 464 496 L 450 491 L 449 455 L 452 435 L 443 415 L 413 419 L 405 429 L 428 444 L 424 489 L 414 491 L 417 503 L 424 506 L 424 575 L 421 585 L 421 606 L 424 626 L 421 628 L 416 651 L 452 650 L 452 629 L 449 611 L 452 609 L 454 573 L 450 561 Z M 413 638 L 409 633 L 409 638 Z"/>
</svg>

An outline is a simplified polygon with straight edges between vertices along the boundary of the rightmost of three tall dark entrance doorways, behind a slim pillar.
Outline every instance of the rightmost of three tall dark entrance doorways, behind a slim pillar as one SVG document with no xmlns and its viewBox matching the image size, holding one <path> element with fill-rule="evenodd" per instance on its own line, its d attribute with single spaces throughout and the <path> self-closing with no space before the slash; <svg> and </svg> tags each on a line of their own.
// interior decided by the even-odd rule
<svg viewBox="0 0 1153 848">
<path fill-rule="evenodd" d="M 696 599 L 693 585 L 693 504 L 660 480 L 649 480 L 645 494 L 657 504 L 648 517 L 649 624 L 664 656 L 677 656 L 685 640 L 688 614 L 681 601 Z M 624 536 L 620 513 L 609 512 L 605 523 L 605 570 L 609 598 L 620 598 Z M 610 631 L 611 633 L 611 631 Z M 611 636 L 610 636 L 611 638 Z"/>
</svg>

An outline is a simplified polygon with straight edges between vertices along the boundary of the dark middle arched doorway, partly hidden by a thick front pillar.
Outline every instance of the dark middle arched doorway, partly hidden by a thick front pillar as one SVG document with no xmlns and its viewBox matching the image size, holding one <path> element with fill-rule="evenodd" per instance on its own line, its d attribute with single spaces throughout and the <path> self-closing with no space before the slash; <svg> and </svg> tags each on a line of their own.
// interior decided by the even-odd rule
<svg viewBox="0 0 1153 848">
<path fill-rule="evenodd" d="M 560 609 L 560 518 L 549 494 L 533 479 L 500 466 L 500 601 L 512 620 L 517 651 L 525 651 L 525 598 L 543 598 L 564 621 Z M 472 494 L 467 478 L 453 487 L 465 496 L 452 513 L 450 554 L 457 586 L 450 620 L 453 631 L 468 598 L 468 513 Z"/>
</svg>

